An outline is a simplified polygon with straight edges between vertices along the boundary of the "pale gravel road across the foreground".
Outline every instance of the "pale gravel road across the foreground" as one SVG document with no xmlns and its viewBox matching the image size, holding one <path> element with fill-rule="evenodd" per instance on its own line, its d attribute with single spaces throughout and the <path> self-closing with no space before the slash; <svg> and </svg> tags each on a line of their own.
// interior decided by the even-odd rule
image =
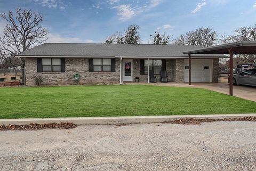
<svg viewBox="0 0 256 171">
<path fill-rule="evenodd" d="M 0 170 L 256 170 L 256 123 L 3 131 Z"/>
</svg>

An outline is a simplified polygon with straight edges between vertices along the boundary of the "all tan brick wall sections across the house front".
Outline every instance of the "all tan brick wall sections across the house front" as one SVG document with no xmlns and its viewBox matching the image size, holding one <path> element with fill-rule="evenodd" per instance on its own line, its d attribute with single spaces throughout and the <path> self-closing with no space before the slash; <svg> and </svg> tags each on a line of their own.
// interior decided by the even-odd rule
<svg viewBox="0 0 256 171">
<path fill-rule="evenodd" d="M 89 72 L 88 58 L 66 58 L 66 72 L 37 73 L 36 58 L 26 59 L 26 83 L 35 85 L 34 75 L 43 77 L 42 85 L 72 85 L 73 76 L 81 76 L 79 84 L 119 84 L 120 60 L 116 58 L 116 72 Z M 166 59 L 166 72 L 171 82 L 183 83 L 183 59 Z M 140 59 L 133 59 L 133 82 L 148 82 L 148 75 L 140 75 Z M 219 60 L 213 59 L 213 82 L 218 83 Z M 160 82 L 161 75 L 156 75 Z"/>
</svg>

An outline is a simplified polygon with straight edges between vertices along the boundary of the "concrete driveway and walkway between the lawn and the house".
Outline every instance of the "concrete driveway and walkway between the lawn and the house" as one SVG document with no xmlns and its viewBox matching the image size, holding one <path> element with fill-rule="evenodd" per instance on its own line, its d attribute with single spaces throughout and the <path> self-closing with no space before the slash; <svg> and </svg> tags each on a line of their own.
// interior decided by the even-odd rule
<svg viewBox="0 0 256 171">
<path fill-rule="evenodd" d="M 157 85 L 157 86 L 171 86 L 171 87 L 191 87 L 191 88 L 205 88 L 214 92 L 229 94 L 228 83 L 127 83 L 129 85 Z M 233 86 L 233 95 L 242 99 L 256 102 L 256 87 L 237 85 Z"/>
</svg>

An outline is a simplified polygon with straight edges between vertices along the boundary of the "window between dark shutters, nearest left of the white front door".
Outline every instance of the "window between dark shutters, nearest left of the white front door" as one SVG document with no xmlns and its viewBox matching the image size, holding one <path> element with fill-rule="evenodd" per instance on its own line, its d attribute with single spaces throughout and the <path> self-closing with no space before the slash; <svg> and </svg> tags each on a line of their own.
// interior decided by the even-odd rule
<svg viewBox="0 0 256 171">
<path fill-rule="evenodd" d="M 110 58 L 94 58 L 93 59 L 94 72 L 111 72 Z"/>
</svg>

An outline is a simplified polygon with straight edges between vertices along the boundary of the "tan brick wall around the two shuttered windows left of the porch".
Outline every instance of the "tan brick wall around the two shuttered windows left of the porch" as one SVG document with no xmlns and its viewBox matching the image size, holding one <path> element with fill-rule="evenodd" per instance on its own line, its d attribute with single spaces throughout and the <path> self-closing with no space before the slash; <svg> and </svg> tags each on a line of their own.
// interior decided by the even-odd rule
<svg viewBox="0 0 256 171">
<path fill-rule="evenodd" d="M 26 58 L 26 83 L 35 85 L 34 75 L 43 77 L 42 85 L 73 85 L 73 76 L 81 76 L 79 84 L 118 84 L 120 60 L 116 58 L 115 72 L 89 72 L 88 58 L 66 58 L 66 72 L 37 72 L 36 58 Z"/>
</svg>

